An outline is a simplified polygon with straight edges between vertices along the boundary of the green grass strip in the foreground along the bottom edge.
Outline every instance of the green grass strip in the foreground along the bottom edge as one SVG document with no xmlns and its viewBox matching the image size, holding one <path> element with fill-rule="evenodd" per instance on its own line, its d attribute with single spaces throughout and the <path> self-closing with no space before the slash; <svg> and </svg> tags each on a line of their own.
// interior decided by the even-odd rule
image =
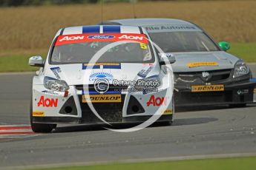
<svg viewBox="0 0 256 170">
<path fill-rule="evenodd" d="M 256 157 L 237 157 L 205 160 L 180 160 L 151 163 L 113 163 L 96 166 L 54 168 L 52 170 L 255 170 Z M 39 169 L 36 169 L 39 170 Z M 43 170 L 43 169 L 40 169 Z M 49 169 L 44 169 L 49 170 Z"/>
</svg>

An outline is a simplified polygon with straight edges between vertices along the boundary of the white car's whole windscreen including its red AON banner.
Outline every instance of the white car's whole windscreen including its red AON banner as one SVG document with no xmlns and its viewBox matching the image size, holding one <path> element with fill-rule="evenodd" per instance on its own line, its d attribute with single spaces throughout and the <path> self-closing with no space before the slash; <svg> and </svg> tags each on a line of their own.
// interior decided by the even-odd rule
<svg viewBox="0 0 256 170">
<path fill-rule="evenodd" d="M 143 34 L 80 34 L 59 35 L 53 47 L 51 64 L 89 63 L 102 47 L 110 47 L 97 63 L 153 63 L 154 55 L 148 39 Z M 132 41 L 132 42 L 131 42 Z"/>
</svg>

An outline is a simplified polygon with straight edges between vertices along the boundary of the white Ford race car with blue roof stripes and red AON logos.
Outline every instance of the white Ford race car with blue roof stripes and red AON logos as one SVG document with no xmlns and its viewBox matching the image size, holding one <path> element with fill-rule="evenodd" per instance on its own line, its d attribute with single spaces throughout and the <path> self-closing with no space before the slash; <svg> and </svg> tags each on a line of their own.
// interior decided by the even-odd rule
<svg viewBox="0 0 256 170">
<path fill-rule="evenodd" d="M 46 60 L 29 61 L 41 67 L 33 78 L 33 131 L 51 132 L 58 123 L 144 122 L 155 115 L 171 123 L 170 63 L 163 61 L 141 27 L 59 30 Z"/>
</svg>

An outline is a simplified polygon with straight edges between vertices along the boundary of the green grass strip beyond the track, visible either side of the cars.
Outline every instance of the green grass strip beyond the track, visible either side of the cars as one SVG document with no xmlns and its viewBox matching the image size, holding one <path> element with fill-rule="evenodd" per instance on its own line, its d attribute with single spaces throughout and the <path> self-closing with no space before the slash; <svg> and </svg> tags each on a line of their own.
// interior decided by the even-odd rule
<svg viewBox="0 0 256 170">
<path fill-rule="evenodd" d="M 38 68 L 28 66 L 28 58 L 32 55 L 46 56 L 47 50 L 13 51 L 0 53 L 0 72 L 27 72 Z M 243 58 L 246 62 L 256 62 L 256 43 L 231 44 L 228 52 Z"/>
</svg>

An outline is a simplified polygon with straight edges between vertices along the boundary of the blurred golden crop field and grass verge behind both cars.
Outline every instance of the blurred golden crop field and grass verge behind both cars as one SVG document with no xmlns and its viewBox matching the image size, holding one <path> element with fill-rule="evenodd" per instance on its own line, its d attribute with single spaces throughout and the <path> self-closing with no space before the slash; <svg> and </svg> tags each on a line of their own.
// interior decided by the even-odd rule
<svg viewBox="0 0 256 170">
<path fill-rule="evenodd" d="M 102 0 L 102 4 L 99 0 L 0 0 L 0 72 L 33 70 L 27 59 L 31 55 L 46 57 L 59 28 L 97 24 L 102 18 L 191 21 L 215 41 L 229 41 L 232 54 L 256 61 L 254 0 Z"/>
</svg>

